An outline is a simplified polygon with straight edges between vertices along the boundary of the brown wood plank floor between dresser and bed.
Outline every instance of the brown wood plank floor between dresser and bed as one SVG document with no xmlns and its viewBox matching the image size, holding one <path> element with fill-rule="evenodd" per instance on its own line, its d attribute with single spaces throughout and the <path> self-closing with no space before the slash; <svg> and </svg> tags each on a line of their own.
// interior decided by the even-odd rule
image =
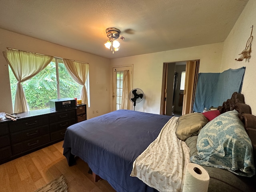
<svg viewBox="0 0 256 192">
<path fill-rule="evenodd" d="M 69 167 L 63 156 L 63 142 L 0 165 L 1 192 L 34 192 L 64 175 L 69 192 L 115 192 L 105 180 L 94 182 L 81 159 Z"/>
</svg>

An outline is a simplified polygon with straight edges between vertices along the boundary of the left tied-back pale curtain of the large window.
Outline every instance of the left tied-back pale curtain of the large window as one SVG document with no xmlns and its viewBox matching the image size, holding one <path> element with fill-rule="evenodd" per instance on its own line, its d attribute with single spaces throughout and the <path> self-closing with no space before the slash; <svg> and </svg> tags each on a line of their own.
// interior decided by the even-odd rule
<svg viewBox="0 0 256 192">
<path fill-rule="evenodd" d="M 18 81 L 14 102 L 14 113 L 29 111 L 28 102 L 21 83 L 43 70 L 52 61 L 53 56 L 12 49 L 4 51 L 3 54 Z"/>
</svg>

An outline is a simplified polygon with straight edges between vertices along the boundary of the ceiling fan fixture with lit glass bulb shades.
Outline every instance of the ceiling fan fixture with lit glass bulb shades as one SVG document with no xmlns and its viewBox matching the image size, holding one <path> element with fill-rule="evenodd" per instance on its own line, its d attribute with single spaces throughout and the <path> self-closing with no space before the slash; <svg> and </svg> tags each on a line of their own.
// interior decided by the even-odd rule
<svg viewBox="0 0 256 192">
<path fill-rule="evenodd" d="M 106 28 L 106 34 L 109 40 L 104 45 L 108 49 L 110 49 L 111 47 L 111 51 L 113 52 L 113 54 L 115 51 L 120 50 L 120 42 L 118 42 L 117 39 L 124 40 L 123 36 L 120 37 L 120 32 L 121 31 L 118 28 L 114 28 L 114 27 Z"/>
</svg>

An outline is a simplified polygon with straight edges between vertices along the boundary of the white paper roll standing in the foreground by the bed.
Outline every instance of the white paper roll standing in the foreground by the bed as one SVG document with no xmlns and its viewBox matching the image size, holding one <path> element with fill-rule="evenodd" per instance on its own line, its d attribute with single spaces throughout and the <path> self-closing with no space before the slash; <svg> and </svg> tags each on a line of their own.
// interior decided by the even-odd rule
<svg viewBox="0 0 256 192">
<path fill-rule="evenodd" d="M 207 192 L 210 176 L 200 165 L 188 163 L 182 192 Z"/>
</svg>

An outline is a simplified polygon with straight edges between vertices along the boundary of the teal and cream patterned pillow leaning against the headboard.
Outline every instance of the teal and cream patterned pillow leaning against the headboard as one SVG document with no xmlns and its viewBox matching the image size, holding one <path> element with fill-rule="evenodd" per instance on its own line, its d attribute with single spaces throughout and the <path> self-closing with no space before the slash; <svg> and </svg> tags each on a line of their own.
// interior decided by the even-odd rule
<svg viewBox="0 0 256 192">
<path fill-rule="evenodd" d="M 196 164 L 227 169 L 240 176 L 255 174 L 252 142 L 236 110 L 210 121 L 198 134 Z"/>
</svg>

